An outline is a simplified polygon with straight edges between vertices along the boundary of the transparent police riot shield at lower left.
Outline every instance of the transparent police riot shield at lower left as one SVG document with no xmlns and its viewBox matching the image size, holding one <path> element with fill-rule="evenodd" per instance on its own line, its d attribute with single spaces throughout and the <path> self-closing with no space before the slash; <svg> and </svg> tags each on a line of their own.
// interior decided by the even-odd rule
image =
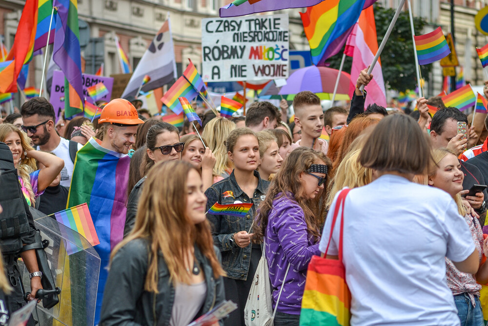
<svg viewBox="0 0 488 326">
<path fill-rule="evenodd" d="M 36 228 L 41 233 L 49 271 L 61 289 L 59 303 L 38 304 L 39 325 L 93 326 L 101 260 L 93 246 L 79 233 L 54 217 L 32 209 Z M 46 242 L 46 240 L 48 242 Z M 38 261 L 40 260 L 38 254 Z M 19 261 L 25 292 L 30 292 L 29 272 Z M 44 284 L 43 284 L 44 286 Z"/>
</svg>

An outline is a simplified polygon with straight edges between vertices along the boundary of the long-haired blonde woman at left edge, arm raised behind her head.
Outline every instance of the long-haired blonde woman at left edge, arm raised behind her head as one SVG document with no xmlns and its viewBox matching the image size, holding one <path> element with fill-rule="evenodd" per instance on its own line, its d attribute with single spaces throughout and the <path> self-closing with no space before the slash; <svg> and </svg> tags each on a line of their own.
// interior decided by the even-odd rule
<svg viewBox="0 0 488 326">
<path fill-rule="evenodd" d="M 20 187 L 29 206 L 56 179 L 64 167 L 64 161 L 52 154 L 36 151 L 29 145 L 26 135 L 11 124 L 0 125 L 0 141 L 12 152 L 14 166 L 19 174 Z M 44 165 L 37 169 L 36 160 Z"/>
</svg>

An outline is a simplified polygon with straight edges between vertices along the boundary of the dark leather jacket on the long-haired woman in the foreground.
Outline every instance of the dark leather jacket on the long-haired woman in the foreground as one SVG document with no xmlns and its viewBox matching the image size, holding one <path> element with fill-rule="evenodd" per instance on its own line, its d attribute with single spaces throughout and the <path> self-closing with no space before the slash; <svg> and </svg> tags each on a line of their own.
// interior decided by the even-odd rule
<svg viewBox="0 0 488 326">
<path fill-rule="evenodd" d="M 220 261 L 220 251 L 214 247 Z M 195 246 L 195 257 L 203 268 L 207 294 L 196 317 L 210 311 L 225 299 L 224 281 L 215 279 L 207 259 Z M 125 244 L 115 255 L 103 293 L 100 326 L 157 325 L 168 326 L 175 299 L 175 288 L 163 255 L 158 255 L 159 293 L 144 290 L 149 265 L 149 240 L 135 239 Z M 221 323 L 221 325 L 224 325 Z"/>
</svg>

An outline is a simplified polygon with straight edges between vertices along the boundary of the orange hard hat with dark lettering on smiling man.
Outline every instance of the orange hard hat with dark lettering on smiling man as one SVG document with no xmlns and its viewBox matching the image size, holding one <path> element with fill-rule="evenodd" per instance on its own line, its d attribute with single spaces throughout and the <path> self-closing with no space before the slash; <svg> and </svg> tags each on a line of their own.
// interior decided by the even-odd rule
<svg viewBox="0 0 488 326">
<path fill-rule="evenodd" d="M 98 123 L 104 122 L 121 125 L 139 125 L 144 123 L 144 121 L 139 119 L 139 114 L 132 103 L 122 98 L 113 99 L 102 109 Z"/>
</svg>

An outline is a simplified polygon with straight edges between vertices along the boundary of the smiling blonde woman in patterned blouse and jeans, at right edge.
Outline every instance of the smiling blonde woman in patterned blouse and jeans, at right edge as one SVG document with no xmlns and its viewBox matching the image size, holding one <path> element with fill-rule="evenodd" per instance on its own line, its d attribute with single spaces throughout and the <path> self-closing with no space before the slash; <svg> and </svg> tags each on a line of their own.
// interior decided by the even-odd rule
<svg viewBox="0 0 488 326">
<path fill-rule="evenodd" d="M 460 272 L 454 263 L 446 257 L 447 286 L 454 295 L 454 303 L 458 310 L 461 325 L 483 326 L 483 311 L 481 309 L 480 284 L 488 282 L 488 264 L 481 264 L 483 253 L 488 256 L 487 241 L 483 240 L 483 229 L 476 215 L 472 215 L 471 208 L 461 195 L 468 193 L 463 191 L 464 173 L 457 156 L 447 148 L 432 151 L 435 165 L 428 173 L 428 185 L 444 190 L 452 196 L 458 206 L 458 212 L 464 217 L 471 231 L 476 251 L 478 253 L 480 267 L 476 274 Z M 431 198 L 435 200 L 435 198 Z M 478 283 L 477 283 L 478 282 Z"/>
</svg>

